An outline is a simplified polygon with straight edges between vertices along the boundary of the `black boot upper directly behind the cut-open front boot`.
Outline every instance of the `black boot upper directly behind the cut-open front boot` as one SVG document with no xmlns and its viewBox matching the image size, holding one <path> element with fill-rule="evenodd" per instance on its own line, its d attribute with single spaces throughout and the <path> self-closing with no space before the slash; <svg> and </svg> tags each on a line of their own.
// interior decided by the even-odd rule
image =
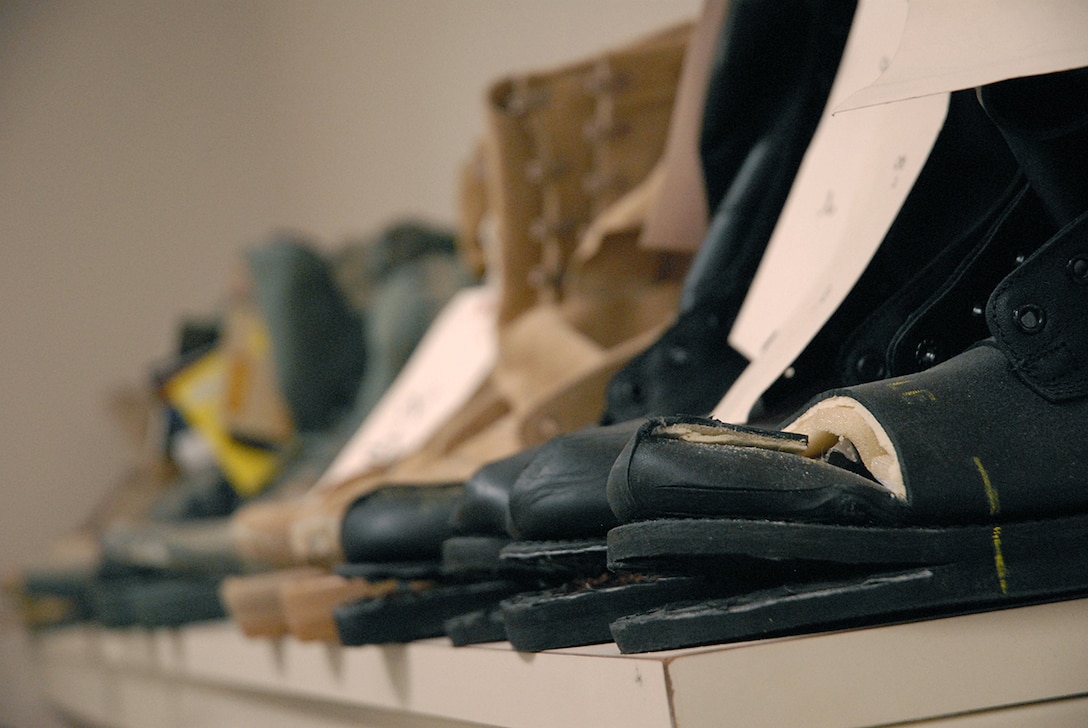
<svg viewBox="0 0 1088 728">
<path fill-rule="evenodd" d="M 929 161 L 874 261 L 795 362 L 794 375 L 765 395 L 770 411 L 786 415 L 820 391 L 889 370 L 919 371 L 985 337 L 987 296 L 1046 225 L 1025 187 L 974 92 L 954 95 Z M 576 431 L 542 447 L 510 496 L 520 536 L 603 536 L 615 525 L 606 507 L 608 471 L 641 421 Z"/>
</svg>

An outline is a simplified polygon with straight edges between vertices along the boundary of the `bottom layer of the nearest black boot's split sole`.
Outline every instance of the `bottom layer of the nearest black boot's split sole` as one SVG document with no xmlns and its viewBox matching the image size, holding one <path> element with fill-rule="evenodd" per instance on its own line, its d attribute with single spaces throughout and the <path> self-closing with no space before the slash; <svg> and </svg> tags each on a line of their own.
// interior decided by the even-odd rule
<svg viewBox="0 0 1088 728">
<path fill-rule="evenodd" d="M 621 652 L 869 627 L 1088 595 L 1088 526 L 994 526 L 969 560 L 678 603 L 613 622 Z"/>
</svg>

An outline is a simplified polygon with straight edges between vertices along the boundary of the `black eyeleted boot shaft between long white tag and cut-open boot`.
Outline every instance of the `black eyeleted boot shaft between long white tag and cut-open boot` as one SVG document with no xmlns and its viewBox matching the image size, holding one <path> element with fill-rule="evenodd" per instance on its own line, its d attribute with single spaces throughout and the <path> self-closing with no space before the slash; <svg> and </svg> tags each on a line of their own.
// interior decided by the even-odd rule
<svg viewBox="0 0 1088 728">
<path fill-rule="evenodd" d="M 985 338 L 993 287 L 1054 230 L 975 92 L 952 94 L 876 255 L 752 420 L 778 423 L 818 392 L 922 371 Z"/>
</svg>

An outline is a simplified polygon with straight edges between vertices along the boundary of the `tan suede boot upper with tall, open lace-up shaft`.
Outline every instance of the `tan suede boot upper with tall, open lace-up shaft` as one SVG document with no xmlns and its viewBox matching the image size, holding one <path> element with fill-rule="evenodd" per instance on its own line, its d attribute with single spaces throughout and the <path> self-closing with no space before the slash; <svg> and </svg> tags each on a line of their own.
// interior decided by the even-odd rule
<svg viewBox="0 0 1088 728">
<path fill-rule="evenodd" d="M 391 467 L 300 502 L 239 510 L 239 545 L 263 542 L 272 553 L 286 530 L 294 562 L 335 563 L 343 513 L 360 495 L 462 480 L 596 421 L 611 373 L 670 320 L 687 268 L 688 256 L 643 250 L 638 238 L 646 208 L 639 185 L 663 148 L 690 33 L 670 28 L 490 89 L 486 215 L 498 245 L 482 247 L 499 288 L 494 371 L 422 448 Z M 486 215 L 468 215 L 472 234 Z"/>
</svg>

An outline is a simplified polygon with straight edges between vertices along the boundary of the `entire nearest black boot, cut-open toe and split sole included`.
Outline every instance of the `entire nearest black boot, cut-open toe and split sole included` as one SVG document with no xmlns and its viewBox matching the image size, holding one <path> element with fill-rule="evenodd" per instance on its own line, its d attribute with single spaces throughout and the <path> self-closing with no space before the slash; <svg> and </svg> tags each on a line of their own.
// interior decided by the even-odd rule
<svg viewBox="0 0 1088 728">
<path fill-rule="evenodd" d="M 1076 447 L 1088 428 L 1088 72 L 978 96 L 1040 200 L 1044 222 L 1025 243 L 1060 229 L 992 292 L 993 337 L 928 371 L 820 395 L 788 425 L 806 439 L 800 454 L 744 442 L 720 423 L 644 429 L 648 459 L 638 462 L 632 441 L 609 496 L 629 518 L 657 520 L 609 533 L 614 566 L 688 558 L 697 571 L 762 559 L 800 572 L 784 588 L 617 620 L 621 650 L 1088 594 L 1088 489 Z M 656 446 L 670 454 L 654 457 Z M 849 468 L 836 465 L 843 455 Z M 753 469 L 742 474 L 745 462 Z M 657 486 L 639 482 L 662 465 Z M 790 477 L 794 469 L 804 476 Z M 828 579 L 828 565 L 869 570 Z"/>
</svg>

